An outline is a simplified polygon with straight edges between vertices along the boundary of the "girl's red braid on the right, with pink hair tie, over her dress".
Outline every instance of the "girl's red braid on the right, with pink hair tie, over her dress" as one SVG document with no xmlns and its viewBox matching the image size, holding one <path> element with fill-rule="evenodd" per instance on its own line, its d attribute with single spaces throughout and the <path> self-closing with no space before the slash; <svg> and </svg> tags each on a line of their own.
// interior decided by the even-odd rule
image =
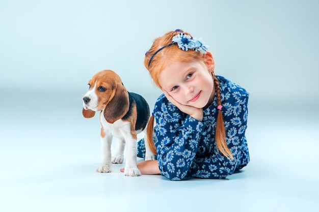
<svg viewBox="0 0 319 212">
<path fill-rule="evenodd" d="M 212 76 L 214 77 L 214 84 L 215 84 L 215 90 L 216 90 L 216 97 L 217 97 L 217 104 L 222 105 L 221 101 L 221 90 L 219 87 L 219 81 L 214 73 L 212 73 Z M 220 152 L 227 157 L 228 159 L 233 159 L 232 154 L 227 146 L 226 143 L 226 132 L 225 132 L 225 126 L 224 126 L 224 119 L 222 110 L 218 109 L 218 116 L 217 116 L 217 123 L 216 123 L 216 129 L 215 129 L 215 142 L 220 150 Z"/>
</svg>

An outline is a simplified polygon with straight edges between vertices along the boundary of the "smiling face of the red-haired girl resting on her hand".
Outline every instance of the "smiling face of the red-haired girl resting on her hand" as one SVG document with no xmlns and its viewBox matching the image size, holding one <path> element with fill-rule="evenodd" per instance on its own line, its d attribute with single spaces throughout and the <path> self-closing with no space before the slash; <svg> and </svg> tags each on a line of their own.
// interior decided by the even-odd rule
<svg viewBox="0 0 319 212">
<path fill-rule="evenodd" d="M 159 73 L 158 82 L 180 104 L 203 108 L 215 94 L 210 68 L 198 62 L 173 62 Z"/>
</svg>

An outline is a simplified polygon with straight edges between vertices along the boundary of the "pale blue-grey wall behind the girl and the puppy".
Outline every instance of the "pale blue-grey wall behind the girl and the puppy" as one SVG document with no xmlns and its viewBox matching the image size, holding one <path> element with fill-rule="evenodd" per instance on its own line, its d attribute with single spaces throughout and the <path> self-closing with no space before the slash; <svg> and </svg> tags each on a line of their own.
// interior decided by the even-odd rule
<svg viewBox="0 0 319 212">
<path fill-rule="evenodd" d="M 158 96 L 144 53 L 155 37 L 181 28 L 203 38 L 216 73 L 247 88 L 251 99 L 317 100 L 318 6 L 309 0 L 2 0 L 0 89 L 84 93 L 96 72 L 112 69 L 130 91 Z"/>
</svg>

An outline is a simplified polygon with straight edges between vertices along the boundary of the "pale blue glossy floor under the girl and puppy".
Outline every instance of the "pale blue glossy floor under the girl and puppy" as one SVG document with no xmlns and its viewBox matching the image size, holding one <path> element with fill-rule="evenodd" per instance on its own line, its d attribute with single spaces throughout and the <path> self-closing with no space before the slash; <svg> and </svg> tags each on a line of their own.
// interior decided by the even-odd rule
<svg viewBox="0 0 319 212">
<path fill-rule="evenodd" d="M 96 173 L 100 125 L 82 117 L 82 94 L 5 91 L 0 211 L 318 210 L 318 112 L 251 97 L 249 165 L 226 180 L 169 181 L 126 177 L 123 165 Z"/>
</svg>

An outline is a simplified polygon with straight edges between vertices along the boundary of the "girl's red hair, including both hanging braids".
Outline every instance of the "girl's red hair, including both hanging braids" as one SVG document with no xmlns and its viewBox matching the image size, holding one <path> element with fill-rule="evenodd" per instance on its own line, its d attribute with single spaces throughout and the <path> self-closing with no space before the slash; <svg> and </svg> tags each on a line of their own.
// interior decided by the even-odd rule
<svg viewBox="0 0 319 212">
<path fill-rule="evenodd" d="M 203 56 L 203 53 L 197 52 L 194 50 L 183 51 L 178 48 L 177 45 L 171 45 L 168 47 L 163 48 L 161 51 L 157 52 L 153 57 L 152 55 L 163 46 L 166 46 L 172 43 L 172 39 L 174 36 L 178 35 L 179 33 L 184 33 L 182 30 L 180 31 L 171 31 L 166 33 L 162 37 L 158 37 L 154 40 L 151 48 L 147 51 L 144 58 L 144 65 L 146 69 L 149 71 L 151 78 L 155 82 L 155 84 L 162 89 L 162 86 L 158 82 L 158 75 L 161 71 L 172 62 L 190 62 L 196 61 L 206 65 L 206 57 Z M 185 35 L 191 36 L 189 33 L 184 33 Z M 152 57 L 151 62 L 149 63 L 150 58 Z M 217 102 L 218 105 L 221 105 L 221 95 L 220 95 L 220 87 L 218 79 L 214 74 L 214 85 L 217 94 Z M 156 155 L 156 147 L 153 142 L 153 131 L 154 131 L 154 116 L 152 115 L 149 124 L 147 127 L 147 142 L 148 146 L 150 147 L 152 153 Z M 215 130 L 215 142 L 220 150 L 220 152 L 229 159 L 232 159 L 232 154 L 227 147 L 226 143 L 226 133 L 225 133 L 225 126 L 222 111 L 218 111 L 217 117 L 217 124 Z"/>
</svg>

